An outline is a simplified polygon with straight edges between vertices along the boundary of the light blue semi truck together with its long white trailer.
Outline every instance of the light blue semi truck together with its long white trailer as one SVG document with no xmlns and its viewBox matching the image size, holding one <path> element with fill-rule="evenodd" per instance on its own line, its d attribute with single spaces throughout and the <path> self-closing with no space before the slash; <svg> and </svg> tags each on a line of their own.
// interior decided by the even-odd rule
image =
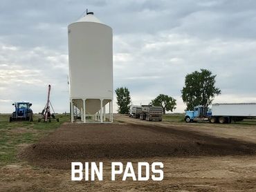
<svg viewBox="0 0 256 192">
<path fill-rule="evenodd" d="M 203 106 L 195 106 L 194 111 L 185 112 L 185 122 L 210 121 L 224 124 L 252 118 L 256 118 L 255 103 L 212 104 L 211 110 Z"/>
</svg>

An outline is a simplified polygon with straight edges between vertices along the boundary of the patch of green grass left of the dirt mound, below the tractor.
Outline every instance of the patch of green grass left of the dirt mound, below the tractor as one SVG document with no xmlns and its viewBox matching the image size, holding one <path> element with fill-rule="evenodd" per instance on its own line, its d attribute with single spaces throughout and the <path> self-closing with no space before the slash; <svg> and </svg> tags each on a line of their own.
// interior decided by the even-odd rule
<svg viewBox="0 0 256 192">
<path fill-rule="evenodd" d="M 60 122 L 9 122 L 10 115 L 0 115 L 0 166 L 18 162 L 17 151 L 20 146 L 37 142 L 44 135 L 54 131 L 63 122 L 68 121 L 68 115 L 57 115 Z"/>
</svg>

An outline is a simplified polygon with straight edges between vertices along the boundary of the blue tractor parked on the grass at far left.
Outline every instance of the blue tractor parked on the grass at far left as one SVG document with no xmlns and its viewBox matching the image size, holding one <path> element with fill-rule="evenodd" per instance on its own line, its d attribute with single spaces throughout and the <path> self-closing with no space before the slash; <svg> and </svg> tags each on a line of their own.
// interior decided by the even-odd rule
<svg viewBox="0 0 256 192">
<path fill-rule="evenodd" d="M 30 108 L 32 104 L 29 102 L 15 102 L 12 105 L 15 106 L 15 112 L 10 116 L 10 122 L 19 120 L 33 122 L 33 111 Z"/>
</svg>

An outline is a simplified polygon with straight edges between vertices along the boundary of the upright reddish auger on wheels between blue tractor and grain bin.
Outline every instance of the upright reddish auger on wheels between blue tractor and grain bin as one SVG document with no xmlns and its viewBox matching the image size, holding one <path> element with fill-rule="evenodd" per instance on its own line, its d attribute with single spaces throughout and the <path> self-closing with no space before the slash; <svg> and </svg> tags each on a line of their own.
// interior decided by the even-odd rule
<svg viewBox="0 0 256 192">
<path fill-rule="evenodd" d="M 38 122 L 51 122 L 51 120 L 56 120 L 59 122 L 59 118 L 55 118 L 55 111 L 53 109 L 53 106 L 50 101 L 50 92 L 51 92 L 51 85 L 48 85 L 48 96 L 47 96 L 47 102 L 46 106 L 44 107 L 41 115 L 42 117 L 38 119 Z M 53 113 L 51 113 L 51 108 L 53 110 Z"/>
</svg>

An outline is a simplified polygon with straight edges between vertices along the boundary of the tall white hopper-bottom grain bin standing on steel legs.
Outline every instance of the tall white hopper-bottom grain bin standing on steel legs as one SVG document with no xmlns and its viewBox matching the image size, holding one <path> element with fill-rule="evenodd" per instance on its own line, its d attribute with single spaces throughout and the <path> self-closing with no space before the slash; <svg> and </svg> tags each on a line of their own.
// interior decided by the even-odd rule
<svg viewBox="0 0 256 192">
<path fill-rule="evenodd" d="M 77 109 L 81 122 L 113 122 L 113 33 L 93 12 L 68 25 L 68 68 L 71 122 Z"/>
</svg>

